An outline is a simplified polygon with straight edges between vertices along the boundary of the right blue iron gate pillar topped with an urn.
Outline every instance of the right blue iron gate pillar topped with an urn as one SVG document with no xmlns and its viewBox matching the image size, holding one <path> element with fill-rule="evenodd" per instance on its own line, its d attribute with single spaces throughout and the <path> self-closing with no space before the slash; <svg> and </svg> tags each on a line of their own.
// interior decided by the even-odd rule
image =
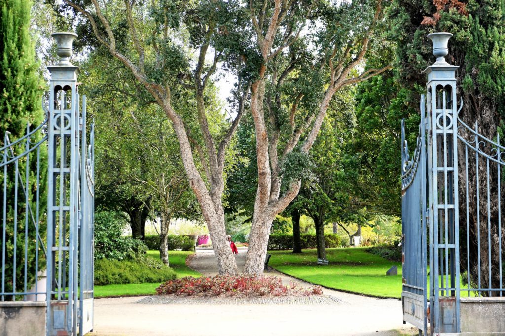
<svg viewBox="0 0 505 336">
<path fill-rule="evenodd" d="M 449 33 L 428 35 L 437 61 L 428 75 L 430 179 L 430 307 L 433 332 L 460 332 L 460 251 L 456 76 L 445 62 Z M 440 45 L 437 43 L 440 42 Z"/>
</svg>

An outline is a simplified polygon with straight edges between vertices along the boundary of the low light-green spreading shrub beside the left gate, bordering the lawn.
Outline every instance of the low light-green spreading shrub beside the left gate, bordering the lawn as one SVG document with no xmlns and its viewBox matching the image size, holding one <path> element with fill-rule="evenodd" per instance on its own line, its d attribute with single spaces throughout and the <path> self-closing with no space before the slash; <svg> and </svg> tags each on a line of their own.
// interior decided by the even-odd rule
<svg viewBox="0 0 505 336">
<path fill-rule="evenodd" d="M 95 285 L 162 283 L 172 279 L 175 279 L 172 268 L 147 256 L 134 260 L 104 258 L 95 261 Z"/>
</svg>

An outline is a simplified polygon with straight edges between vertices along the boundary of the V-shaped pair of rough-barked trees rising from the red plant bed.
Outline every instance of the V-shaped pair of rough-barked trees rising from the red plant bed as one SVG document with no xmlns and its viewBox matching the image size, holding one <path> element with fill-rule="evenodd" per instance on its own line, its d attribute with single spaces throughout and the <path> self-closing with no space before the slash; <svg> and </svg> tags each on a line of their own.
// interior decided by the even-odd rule
<svg viewBox="0 0 505 336">
<path fill-rule="evenodd" d="M 300 187 L 299 176 L 284 178 L 283 162 L 287 157 L 291 162 L 306 160 L 335 92 L 388 68 L 355 72 L 363 67 L 372 39 L 380 42 L 381 2 L 274 0 L 250 1 L 248 7 L 238 0 L 194 1 L 187 6 L 156 1 L 113 2 L 107 7 L 96 0 L 66 3 L 87 18 L 100 44 L 130 69 L 170 119 L 220 273 L 236 272 L 225 239 L 223 173 L 226 150 L 251 83 L 259 178 L 244 271 L 263 273 L 272 220 Z M 190 50 L 181 48 L 184 36 L 189 36 Z M 205 91 L 218 65 L 238 78 L 237 117 L 227 132 L 213 137 Z M 283 95 L 284 86 L 292 81 L 296 87 Z M 193 92 L 195 114 L 185 116 L 178 110 L 181 89 Z M 191 143 L 198 144 L 202 170 L 195 163 Z"/>
</svg>

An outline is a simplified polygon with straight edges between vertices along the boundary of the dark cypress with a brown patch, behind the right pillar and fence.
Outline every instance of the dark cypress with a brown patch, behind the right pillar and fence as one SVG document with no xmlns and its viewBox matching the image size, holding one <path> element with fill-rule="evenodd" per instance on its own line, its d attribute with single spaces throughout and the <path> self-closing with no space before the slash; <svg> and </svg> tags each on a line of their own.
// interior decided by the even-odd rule
<svg viewBox="0 0 505 336">
<path fill-rule="evenodd" d="M 488 139 L 495 140 L 496 133 L 503 138 L 505 131 L 505 1 L 504 0 L 468 0 L 468 1 L 437 1 L 437 0 L 395 0 L 391 17 L 395 23 L 394 39 L 398 41 L 397 64 L 401 76 L 398 81 L 403 87 L 409 88 L 411 96 L 418 97 L 416 87 L 426 81 L 422 70 L 433 63 L 431 42 L 426 35 L 435 31 L 446 31 L 453 34 L 449 41 L 449 54 L 447 61 L 452 65 L 460 66 L 458 69 L 457 83 L 458 96 L 463 97 L 464 105 L 460 118 L 467 125 L 479 124 L 479 133 Z M 414 100 L 411 97 L 411 100 Z M 463 136 L 470 139 L 469 134 Z M 503 144 L 503 142 L 501 142 Z M 488 147 L 490 147 L 488 145 Z M 481 148 L 482 149 L 482 148 Z M 482 149 L 482 150 L 485 150 Z M 471 151 L 468 155 L 470 157 Z M 489 152 L 492 155 L 492 152 Z M 459 166 L 465 167 L 465 151 L 459 145 Z M 500 167 L 503 172 L 502 166 Z M 480 243 L 480 263 L 482 287 L 499 287 L 499 260 L 498 253 L 498 212 L 497 193 L 501 199 L 505 197 L 505 189 L 497 190 L 498 169 L 495 163 L 490 164 L 490 236 L 491 259 L 488 258 L 488 221 L 487 200 L 480 198 L 477 204 L 477 169 L 475 163 L 468 163 L 469 183 L 469 245 L 466 239 L 460 239 L 460 270 L 467 272 L 472 287 L 478 283 L 478 250 Z M 460 173 L 461 174 L 461 173 Z M 479 163 L 481 176 L 479 188 L 487 192 L 486 162 Z M 464 179 L 462 180 L 464 183 Z M 460 185 L 460 238 L 466 237 L 467 219 L 466 190 Z M 485 195 L 485 194 L 484 194 Z M 503 205 L 503 203 L 502 203 Z M 480 222 L 476 219 L 480 211 Z M 503 216 L 503 215 L 502 215 Z M 502 219 L 502 218 L 501 218 Z M 480 242 L 477 232 L 480 230 Z M 505 228 L 501 226 L 501 246 L 505 246 Z M 469 251 L 469 253 L 467 253 Z M 470 259 L 470 269 L 467 269 L 467 260 Z M 501 259 L 505 260 L 505 250 L 502 250 Z M 472 266 L 473 265 L 473 266 Z M 489 278 L 489 265 L 492 274 Z M 505 277 L 505 268 L 502 267 L 502 277 Z M 488 295 L 482 292 L 482 295 Z M 491 295 L 497 295 L 493 292 Z"/>
</svg>

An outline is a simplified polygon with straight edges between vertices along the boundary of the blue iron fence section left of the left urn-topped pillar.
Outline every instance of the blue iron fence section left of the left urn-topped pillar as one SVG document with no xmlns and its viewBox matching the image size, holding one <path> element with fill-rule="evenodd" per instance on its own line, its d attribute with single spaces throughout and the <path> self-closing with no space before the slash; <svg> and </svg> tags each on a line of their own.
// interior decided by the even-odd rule
<svg viewBox="0 0 505 336">
<path fill-rule="evenodd" d="M 3 212 L 2 212 L 2 292 L 1 300 L 28 300 L 34 296 L 35 300 L 39 295 L 45 294 L 40 291 L 38 286 L 39 266 L 45 259 L 46 250 L 44 241 L 39 233 L 40 223 L 44 222 L 43 211 L 40 211 L 40 189 L 43 189 L 41 174 L 41 150 L 45 150 L 43 144 L 47 141 L 44 135 L 44 128 L 47 125 L 47 119 L 36 128 L 31 129 L 26 126 L 26 135 L 14 142 L 10 140 L 10 133 L 4 135 L 4 146 L 0 148 L 2 161 L 0 162 L 0 171 L 2 171 L 3 183 Z M 32 158 L 32 156 L 35 156 Z M 34 159 L 35 161 L 31 161 Z M 24 172 L 20 170 L 24 167 Z M 33 172 L 34 171 L 34 172 Z M 31 176 L 35 174 L 35 177 Z M 14 190 L 9 188 L 9 178 L 14 179 Z M 19 190 L 21 189 L 21 191 Z M 14 195 L 8 195 L 8 192 L 14 192 Z M 35 195 L 33 195 L 33 193 Z M 20 195 L 21 194 L 21 195 Z M 35 199 L 33 200 L 33 197 Z M 23 218 L 24 230 L 18 232 L 19 218 Z M 35 231 L 35 241 L 29 240 L 29 233 Z M 22 246 L 18 243 L 22 242 Z M 12 246 L 11 249 L 7 245 Z M 31 264 L 28 264 L 28 250 L 32 245 L 35 246 L 35 259 L 33 262 L 33 274 L 29 273 Z M 18 251 L 22 254 L 18 255 Z M 21 252 L 21 251 L 20 251 Z M 19 263 L 23 263 L 23 270 L 17 278 L 16 268 Z M 8 266 L 12 265 L 11 272 L 8 272 Z M 28 278 L 34 277 L 35 285 L 33 289 L 28 288 Z M 18 286 L 22 284 L 22 288 Z"/>
</svg>

